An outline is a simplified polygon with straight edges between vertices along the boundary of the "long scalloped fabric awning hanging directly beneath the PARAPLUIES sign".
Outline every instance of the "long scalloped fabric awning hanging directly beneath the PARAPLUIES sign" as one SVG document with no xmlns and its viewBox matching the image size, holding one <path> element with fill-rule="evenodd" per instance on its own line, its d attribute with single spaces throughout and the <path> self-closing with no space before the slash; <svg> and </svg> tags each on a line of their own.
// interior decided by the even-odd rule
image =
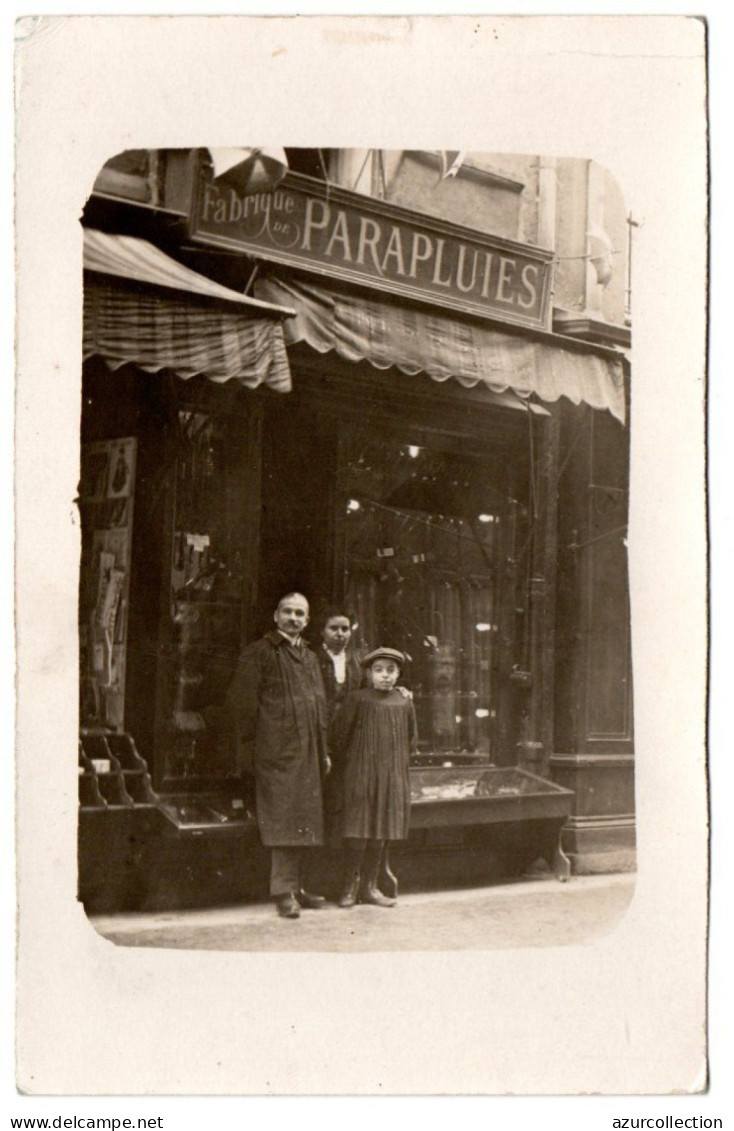
<svg viewBox="0 0 734 1131">
<path fill-rule="evenodd" d="M 535 394 L 545 402 L 568 397 L 576 405 L 608 409 L 624 423 L 622 360 L 608 353 L 550 343 L 550 334 L 545 340 L 507 334 L 438 310 L 328 291 L 302 279 L 261 276 L 257 293 L 295 308 L 296 317 L 285 326 L 288 345 L 305 342 L 320 353 L 334 349 L 378 369 L 425 372 L 434 381 L 484 382 L 498 394 Z"/>
</svg>

